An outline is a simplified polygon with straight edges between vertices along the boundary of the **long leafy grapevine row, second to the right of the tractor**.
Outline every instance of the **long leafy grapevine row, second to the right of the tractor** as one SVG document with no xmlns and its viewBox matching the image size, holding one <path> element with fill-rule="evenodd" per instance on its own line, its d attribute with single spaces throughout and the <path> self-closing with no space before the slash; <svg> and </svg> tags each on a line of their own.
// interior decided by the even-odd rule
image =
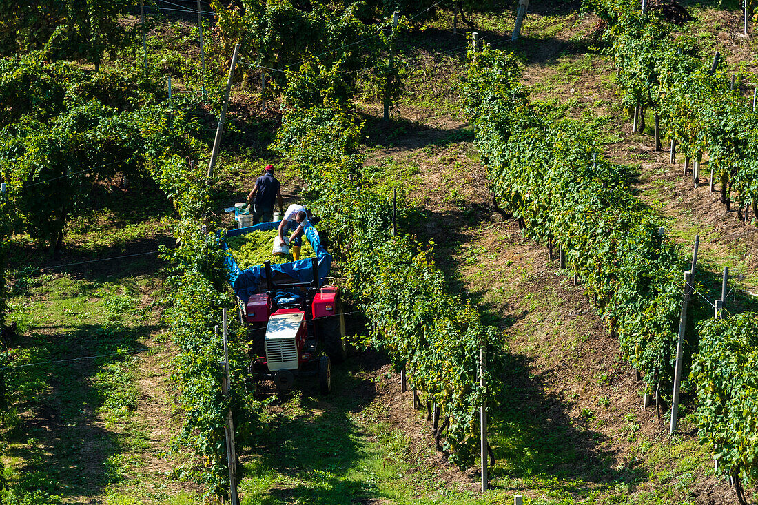
<svg viewBox="0 0 758 505">
<path fill-rule="evenodd" d="M 528 101 L 512 55 L 471 55 L 465 86 L 476 146 L 500 205 L 534 240 L 556 240 L 622 351 L 648 384 L 671 381 L 684 259 L 606 162 L 588 128 Z"/>
</svg>

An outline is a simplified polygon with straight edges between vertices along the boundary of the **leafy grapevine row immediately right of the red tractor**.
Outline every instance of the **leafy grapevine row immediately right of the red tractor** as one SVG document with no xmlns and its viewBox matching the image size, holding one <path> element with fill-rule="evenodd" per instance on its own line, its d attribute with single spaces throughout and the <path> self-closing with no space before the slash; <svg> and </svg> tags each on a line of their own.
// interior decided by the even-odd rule
<svg viewBox="0 0 758 505">
<path fill-rule="evenodd" d="M 433 245 L 392 236 L 389 202 L 362 190 L 360 135 L 355 112 L 334 104 L 291 111 L 277 143 L 309 180 L 309 198 L 334 238 L 347 290 L 368 318 L 366 343 L 387 350 L 397 369 L 406 367 L 448 421 L 443 447 L 469 466 L 478 445 L 478 406 L 485 398 L 497 405 L 502 338 L 481 323 L 475 307 L 449 294 L 432 260 Z M 478 385 L 480 347 L 487 355 L 487 391 Z"/>
</svg>

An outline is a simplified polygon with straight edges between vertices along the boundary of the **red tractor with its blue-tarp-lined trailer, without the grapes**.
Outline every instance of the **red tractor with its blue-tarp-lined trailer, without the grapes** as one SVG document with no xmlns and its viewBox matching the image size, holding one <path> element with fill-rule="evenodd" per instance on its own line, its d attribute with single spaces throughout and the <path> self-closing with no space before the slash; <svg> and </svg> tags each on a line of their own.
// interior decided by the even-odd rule
<svg viewBox="0 0 758 505">
<path fill-rule="evenodd" d="M 271 231 L 280 221 L 225 232 L 225 237 Z M 318 377 L 322 394 L 331 391 L 331 367 L 346 358 L 345 312 L 340 288 L 329 277 L 332 257 L 315 226 L 305 227 L 305 240 L 315 256 L 272 265 L 266 261 L 240 270 L 227 252 L 229 282 L 252 347 L 250 372 L 254 382 L 270 380 L 280 391 L 303 378 Z"/>
</svg>

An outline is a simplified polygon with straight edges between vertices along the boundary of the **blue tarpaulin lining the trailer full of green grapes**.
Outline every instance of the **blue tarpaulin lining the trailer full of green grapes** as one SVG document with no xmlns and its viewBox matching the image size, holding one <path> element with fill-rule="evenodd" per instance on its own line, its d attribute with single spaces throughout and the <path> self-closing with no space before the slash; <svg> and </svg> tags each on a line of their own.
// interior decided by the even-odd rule
<svg viewBox="0 0 758 505">
<path fill-rule="evenodd" d="M 237 230 L 230 230 L 226 232 L 226 237 L 237 237 L 239 235 L 249 234 L 252 231 L 271 231 L 276 230 L 279 227 L 281 221 L 275 223 L 260 223 L 255 226 L 249 226 L 239 228 Z M 217 236 L 220 237 L 221 232 L 217 232 Z M 331 268 L 331 255 L 321 245 L 321 239 L 318 237 L 318 231 L 311 224 L 305 227 L 305 238 L 311 243 L 313 250 L 316 253 L 316 259 L 318 264 L 318 277 L 323 279 L 329 274 Z M 225 251 L 229 249 L 227 243 L 221 239 L 221 246 Z M 250 295 L 255 293 L 262 293 L 266 289 L 266 272 L 263 265 L 257 265 L 250 267 L 247 270 L 240 270 L 240 267 L 236 264 L 234 259 L 227 253 L 226 258 L 227 268 L 229 269 L 229 283 L 244 303 L 247 303 Z M 313 281 L 313 268 L 310 258 L 300 259 L 296 262 L 283 263 L 281 265 L 271 265 L 271 274 L 276 275 L 277 272 L 287 274 L 293 278 L 296 282 L 312 282 Z M 319 282 L 321 284 L 321 282 Z"/>
</svg>

